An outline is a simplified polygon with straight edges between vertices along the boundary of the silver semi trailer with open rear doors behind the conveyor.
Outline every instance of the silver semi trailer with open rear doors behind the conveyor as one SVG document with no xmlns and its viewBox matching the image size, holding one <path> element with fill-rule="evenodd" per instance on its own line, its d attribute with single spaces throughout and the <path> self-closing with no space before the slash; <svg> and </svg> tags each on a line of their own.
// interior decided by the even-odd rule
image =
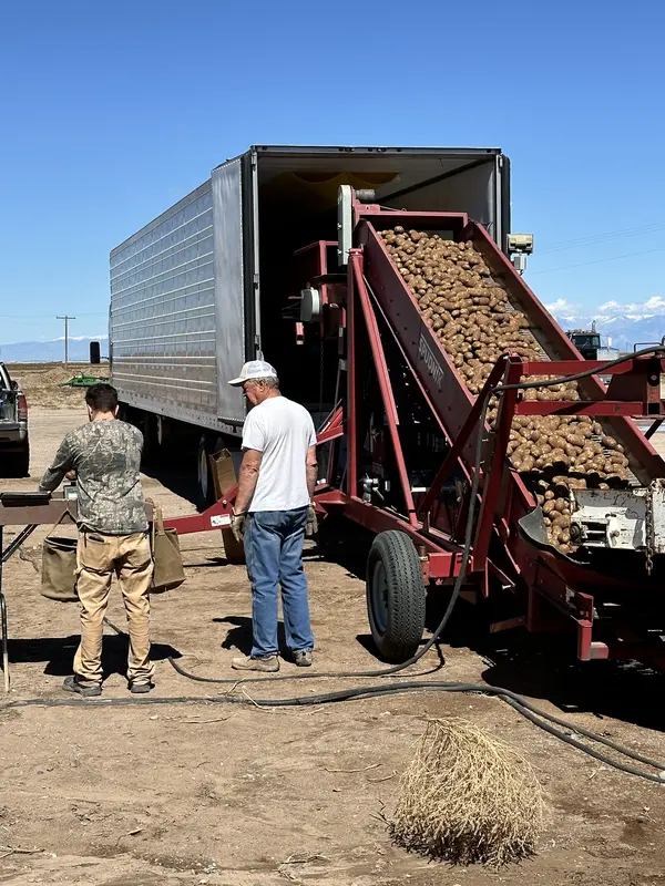
<svg viewBox="0 0 665 886">
<path fill-rule="evenodd" d="M 337 267 L 342 184 L 386 206 L 467 212 L 508 248 L 510 164 L 498 148 L 256 145 L 111 253 L 109 357 L 123 412 L 147 457 L 178 441 L 202 503 L 208 454 L 237 447 L 245 404 L 226 381 L 243 362 L 273 362 L 313 413 L 332 405 L 335 373 L 320 378 L 315 346 L 297 344 L 284 313 L 313 264 L 306 247 L 332 243 Z"/>
</svg>

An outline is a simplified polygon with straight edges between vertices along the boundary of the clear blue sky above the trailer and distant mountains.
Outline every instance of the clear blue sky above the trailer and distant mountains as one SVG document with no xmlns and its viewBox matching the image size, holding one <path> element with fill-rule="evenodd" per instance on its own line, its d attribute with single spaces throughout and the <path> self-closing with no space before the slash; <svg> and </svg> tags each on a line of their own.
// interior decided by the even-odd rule
<svg viewBox="0 0 665 886">
<path fill-rule="evenodd" d="M 260 142 L 500 146 L 543 301 L 665 296 L 664 25 L 652 0 L 2 4 L 0 343 L 102 332 L 109 250 Z"/>
</svg>

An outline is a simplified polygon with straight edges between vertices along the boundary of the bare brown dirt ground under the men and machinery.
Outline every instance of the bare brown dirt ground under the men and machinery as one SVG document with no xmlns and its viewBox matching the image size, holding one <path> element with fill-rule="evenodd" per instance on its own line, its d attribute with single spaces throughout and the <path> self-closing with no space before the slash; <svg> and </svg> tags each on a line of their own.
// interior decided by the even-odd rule
<svg viewBox="0 0 665 886">
<path fill-rule="evenodd" d="M 33 488 L 62 435 L 83 419 L 79 405 L 33 408 L 32 478 L 0 481 L 0 488 Z M 166 513 L 192 511 L 172 492 L 187 488 L 186 474 L 162 480 L 146 477 L 145 488 Z M 39 595 L 43 535 L 32 536 L 4 571 L 12 700 L 63 698 L 76 643 L 76 607 Z M 167 657 L 200 674 L 233 678 L 231 657 L 246 651 L 250 636 L 248 585 L 242 567 L 225 563 L 217 534 L 181 540 L 187 581 L 153 602 L 153 696 L 194 701 L 0 705 L 0 883 L 665 884 L 665 790 L 607 770 L 500 701 L 419 692 L 295 710 L 206 702 L 203 696 L 228 692 L 233 683 L 188 681 Z M 346 532 L 337 545 L 307 550 L 320 670 L 377 664 L 358 577 L 365 546 Z M 124 625 L 116 591 L 109 615 Z M 130 698 L 122 677 L 125 639 L 109 632 L 104 642 L 104 698 Z M 656 674 L 582 668 L 552 658 L 542 640 L 520 632 L 490 641 L 463 608 L 441 651 L 443 668 L 429 679 L 510 687 L 572 723 L 665 758 L 665 694 Z M 294 670 L 283 664 L 283 673 Z M 246 684 L 233 694 L 308 697 L 344 684 Z M 499 872 L 453 868 L 391 845 L 381 815 L 390 815 L 413 742 L 428 718 L 450 714 L 507 740 L 536 766 L 551 816 L 532 861 Z"/>
</svg>

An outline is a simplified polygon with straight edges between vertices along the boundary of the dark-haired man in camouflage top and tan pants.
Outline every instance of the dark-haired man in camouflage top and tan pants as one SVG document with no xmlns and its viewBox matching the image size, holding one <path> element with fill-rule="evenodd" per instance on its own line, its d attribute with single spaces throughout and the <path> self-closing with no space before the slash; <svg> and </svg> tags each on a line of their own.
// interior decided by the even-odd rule
<svg viewBox="0 0 665 886">
<path fill-rule="evenodd" d="M 76 474 L 79 543 L 76 593 L 81 643 L 64 689 L 81 696 L 102 691 L 102 633 L 113 573 L 119 578 L 130 631 L 131 692 L 150 692 L 150 586 L 153 564 L 140 465 L 143 435 L 117 420 L 117 392 L 95 384 L 85 394 L 89 424 L 62 441 L 40 490 L 51 492 L 70 471 Z"/>
</svg>

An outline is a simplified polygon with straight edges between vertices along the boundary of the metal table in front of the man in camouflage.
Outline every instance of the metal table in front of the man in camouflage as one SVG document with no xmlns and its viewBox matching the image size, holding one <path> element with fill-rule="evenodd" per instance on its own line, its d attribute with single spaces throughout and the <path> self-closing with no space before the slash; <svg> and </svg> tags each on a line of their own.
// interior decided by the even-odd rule
<svg viewBox="0 0 665 886">
<path fill-rule="evenodd" d="M 4 563 L 17 553 L 23 542 L 38 526 L 54 524 L 68 511 L 72 519 L 76 519 L 76 499 L 65 498 L 60 493 L 41 492 L 0 492 L 0 616 L 2 618 L 2 673 L 4 691 L 9 692 L 9 652 L 7 631 L 7 600 L 2 585 Z M 21 532 L 7 547 L 3 546 L 6 526 L 23 526 Z"/>
</svg>

